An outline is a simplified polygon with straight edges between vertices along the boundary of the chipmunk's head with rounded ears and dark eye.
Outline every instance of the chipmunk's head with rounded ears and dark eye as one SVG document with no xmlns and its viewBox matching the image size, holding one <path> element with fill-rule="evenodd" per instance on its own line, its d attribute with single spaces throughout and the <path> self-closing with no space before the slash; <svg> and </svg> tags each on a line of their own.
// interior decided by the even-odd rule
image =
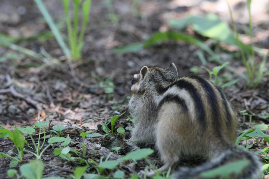
<svg viewBox="0 0 269 179">
<path fill-rule="evenodd" d="M 132 80 L 132 93 L 143 93 L 145 90 L 155 91 L 162 86 L 167 87 L 178 78 L 177 69 L 174 63 L 171 63 L 166 69 L 159 67 L 141 68 L 139 74 L 135 74 Z"/>
</svg>

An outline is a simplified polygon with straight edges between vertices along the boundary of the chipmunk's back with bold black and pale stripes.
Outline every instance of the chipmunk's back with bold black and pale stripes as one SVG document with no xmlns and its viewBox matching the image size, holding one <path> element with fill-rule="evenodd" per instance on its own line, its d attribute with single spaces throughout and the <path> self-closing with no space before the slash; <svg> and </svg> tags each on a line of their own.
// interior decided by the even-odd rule
<svg viewBox="0 0 269 179">
<path fill-rule="evenodd" d="M 149 69 L 150 70 L 150 69 Z M 156 89 L 164 102 L 176 102 L 186 111 L 189 120 L 203 132 L 219 136 L 227 142 L 235 141 L 236 112 L 223 92 L 198 76 L 182 77 L 167 87 Z"/>
</svg>

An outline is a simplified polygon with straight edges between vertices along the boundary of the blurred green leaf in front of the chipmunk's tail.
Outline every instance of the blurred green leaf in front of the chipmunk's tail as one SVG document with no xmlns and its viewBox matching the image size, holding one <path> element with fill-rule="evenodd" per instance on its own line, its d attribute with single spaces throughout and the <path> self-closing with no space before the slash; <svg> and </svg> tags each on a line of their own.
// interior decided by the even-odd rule
<svg viewBox="0 0 269 179">
<path fill-rule="evenodd" d="M 200 177 L 204 177 L 207 179 L 213 179 L 213 178 L 215 179 L 216 177 L 228 178 L 232 174 L 241 173 L 248 165 L 250 165 L 249 160 L 247 159 L 238 160 L 235 162 L 224 164 L 210 171 L 202 172 L 200 174 Z"/>
</svg>

